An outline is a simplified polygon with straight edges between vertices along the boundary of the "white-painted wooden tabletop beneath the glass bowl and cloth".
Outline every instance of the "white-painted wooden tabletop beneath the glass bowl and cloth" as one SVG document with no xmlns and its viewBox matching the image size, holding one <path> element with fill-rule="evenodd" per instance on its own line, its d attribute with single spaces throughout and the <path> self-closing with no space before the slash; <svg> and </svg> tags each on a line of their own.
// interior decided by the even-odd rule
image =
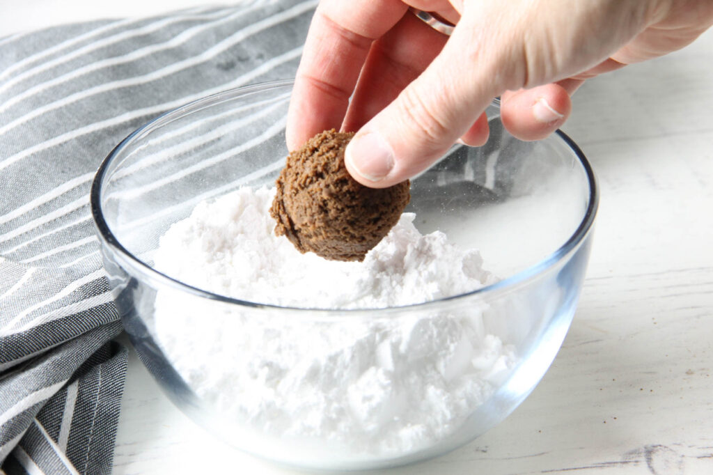
<svg viewBox="0 0 713 475">
<path fill-rule="evenodd" d="M 17 14 L 0 15 L 0 26 L 88 15 L 54 3 L 56 16 L 32 19 L 21 15 L 58 6 L 0 0 Z M 129 1 L 118 13 L 198 3 Z M 553 366 L 471 444 L 373 473 L 713 474 L 713 31 L 585 85 L 564 131 L 593 163 L 602 196 L 580 306 Z M 115 473 L 293 472 L 205 433 L 132 354 Z"/>
</svg>

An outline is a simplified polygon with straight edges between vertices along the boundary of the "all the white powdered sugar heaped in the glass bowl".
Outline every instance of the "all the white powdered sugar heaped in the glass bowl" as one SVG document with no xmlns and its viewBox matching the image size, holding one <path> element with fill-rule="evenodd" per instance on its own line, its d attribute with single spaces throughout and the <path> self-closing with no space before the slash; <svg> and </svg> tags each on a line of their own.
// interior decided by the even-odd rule
<svg viewBox="0 0 713 475">
<path fill-rule="evenodd" d="M 155 267 L 252 302 L 325 309 L 409 305 L 495 281 L 475 250 L 423 236 L 405 213 L 364 262 L 302 255 L 276 237 L 274 190 L 201 203 L 162 237 Z M 244 429 L 396 456 L 453 434 L 513 367 L 483 303 L 309 319 L 159 292 L 155 334 L 199 397 Z"/>
</svg>

